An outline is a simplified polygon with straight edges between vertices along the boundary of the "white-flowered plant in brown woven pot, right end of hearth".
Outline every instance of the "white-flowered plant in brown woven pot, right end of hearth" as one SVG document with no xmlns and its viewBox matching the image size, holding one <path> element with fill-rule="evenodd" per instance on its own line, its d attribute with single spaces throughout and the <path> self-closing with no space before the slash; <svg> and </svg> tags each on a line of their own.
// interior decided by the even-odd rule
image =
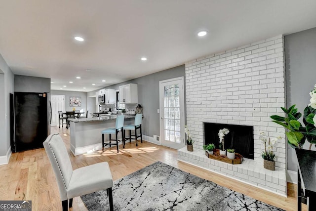
<svg viewBox="0 0 316 211">
<path fill-rule="evenodd" d="M 261 156 L 263 158 L 263 167 L 265 169 L 269 169 L 269 170 L 275 170 L 276 169 L 276 162 L 275 162 L 275 158 L 276 155 L 273 152 L 273 147 L 276 144 L 277 139 L 281 139 L 281 137 L 278 138 L 272 138 L 270 140 L 270 138 L 268 139 L 267 137 L 265 137 L 265 132 L 260 132 L 260 137 L 259 139 L 262 141 L 262 143 L 265 146 L 265 150 L 262 152 Z"/>
</svg>

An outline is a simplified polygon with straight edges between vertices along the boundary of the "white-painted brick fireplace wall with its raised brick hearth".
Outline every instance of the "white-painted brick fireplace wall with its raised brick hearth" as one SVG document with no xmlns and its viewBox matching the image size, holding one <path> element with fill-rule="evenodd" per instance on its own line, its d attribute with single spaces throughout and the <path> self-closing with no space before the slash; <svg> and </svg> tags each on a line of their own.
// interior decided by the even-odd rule
<svg viewBox="0 0 316 211">
<path fill-rule="evenodd" d="M 178 159 L 286 196 L 285 130 L 271 122 L 285 106 L 283 36 L 240 46 L 186 63 L 187 125 L 194 152 L 178 151 Z M 202 150 L 203 123 L 254 127 L 254 160 L 230 165 L 208 159 Z M 276 171 L 263 168 L 260 131 L 281 136 Z"/>
</svg>

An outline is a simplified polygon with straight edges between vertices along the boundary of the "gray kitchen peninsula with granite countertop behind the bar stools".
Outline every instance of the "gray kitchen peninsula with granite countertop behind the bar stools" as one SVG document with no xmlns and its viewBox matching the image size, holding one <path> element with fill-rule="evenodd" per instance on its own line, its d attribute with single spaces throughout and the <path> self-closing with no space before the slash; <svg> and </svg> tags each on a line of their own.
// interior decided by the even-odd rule
<svg viewBox="0 0 316 211">
<path fill-rule="evenodd" d="M 70 150 L 77 156 L 102 149 L 101 131 L 115 127 L 117 115 L 102 117 L 70 119 Z M 135 116 L 126 115 L 124 125 L 134 124 Z M 118 138 L 121 138 L 119 133 Z M 104 136 L 105 141 L 109 141 L 109 136 Z M 115 135 L 112 135 L 112 139 Z M 122 144 L 120 142 L 119 144 Z M 109 147 L 109 146 L 107 146 Z"/>
</svg>

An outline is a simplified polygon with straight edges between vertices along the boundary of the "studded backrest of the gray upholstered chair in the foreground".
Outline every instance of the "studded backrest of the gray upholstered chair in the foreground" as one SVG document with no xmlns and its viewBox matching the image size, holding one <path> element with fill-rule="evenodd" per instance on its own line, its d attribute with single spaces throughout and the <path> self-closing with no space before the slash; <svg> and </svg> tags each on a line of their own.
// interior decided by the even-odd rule
<svg viewBox="0 0 316 211">
<path fill-rule="evenodd" d="M 46 154 L 54 170 L 62 201 L 67 200 L 67 188 L 73 174 L 67 149 L 58 133 L 50 134 L 43 142 Z"/>
</svg>

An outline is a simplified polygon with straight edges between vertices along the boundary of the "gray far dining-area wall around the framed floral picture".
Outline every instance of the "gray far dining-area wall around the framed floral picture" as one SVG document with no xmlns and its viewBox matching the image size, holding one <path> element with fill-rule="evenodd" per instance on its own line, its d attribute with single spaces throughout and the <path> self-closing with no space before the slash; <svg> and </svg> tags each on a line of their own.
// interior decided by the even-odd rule
<svg viewBox="0 0 316 211">
<path fill-rule="evenodd" d="M 51 90 L 50 94 L 65 95 L 65 110 L 72 111 L 74 107 L 70 106 L 70 97 L 81 97 L 81 106 L 76 107 L 76 110 L 87 110 L 87 92 L 82 91 L 62 91 L 62 90 Z M 94 102 L 95 104 L 95 102 Z M 90 111 L 89 111 L 90 113 Z"/>
</svg>

